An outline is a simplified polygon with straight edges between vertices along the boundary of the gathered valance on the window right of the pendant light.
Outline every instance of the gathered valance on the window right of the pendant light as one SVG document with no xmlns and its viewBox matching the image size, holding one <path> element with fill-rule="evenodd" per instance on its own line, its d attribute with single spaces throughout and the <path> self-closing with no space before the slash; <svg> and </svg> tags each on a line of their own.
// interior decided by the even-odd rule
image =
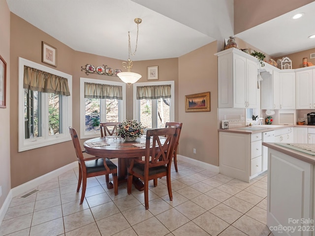
<svg viewBox="0 0 315 236">
<path fill-rule="evenodd" d="M 171 98 L 171 85 L 138 86 L 137 99 Z"/>
</svg>

